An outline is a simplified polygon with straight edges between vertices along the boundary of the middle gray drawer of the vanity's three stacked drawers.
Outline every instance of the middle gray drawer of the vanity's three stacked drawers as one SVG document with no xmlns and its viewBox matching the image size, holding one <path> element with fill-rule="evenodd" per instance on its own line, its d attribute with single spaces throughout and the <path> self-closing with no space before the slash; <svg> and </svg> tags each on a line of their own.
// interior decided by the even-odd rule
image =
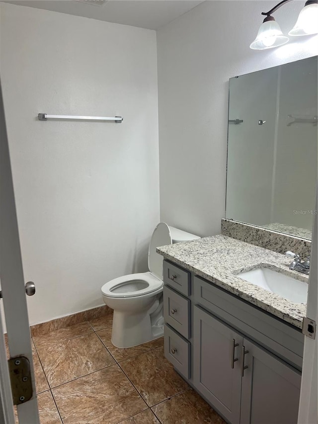
<svg viewBox="0 0 318 424">
<path fill-rule="evenodd" d="M 163 286 L 163 317 L 186 339 L 190 337 L 190 300 Z"/>
</svg>

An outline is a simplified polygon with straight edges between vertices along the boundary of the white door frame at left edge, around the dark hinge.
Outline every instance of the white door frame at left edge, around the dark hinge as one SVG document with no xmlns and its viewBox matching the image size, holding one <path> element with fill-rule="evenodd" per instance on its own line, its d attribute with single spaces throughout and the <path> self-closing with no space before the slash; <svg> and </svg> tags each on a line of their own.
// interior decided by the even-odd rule
<svg viewBox="0 0 318 424">
<path fill-rule="evenodd" d="M 2 100 L 2 87 L 0 80 L 0 277 L 2 299 L 8 347 L 10 357 L 24 356 L 30 364 L 31 384 L 33 394 L 30 400 L 17 405 L 19 424 L 40 424 L 39 412 L 36 398 L 35 376 L 32 358 L 31 334 L 28 318 L 28 310 L 25 296 L 24 276 L 20 250 L 20 239 L 15 208 L 14 188 L 12 181 L 9 145 L 7 139 L 4 106 Z M 5 395 L 3 417 L 10 417 L 12 404 L 8 390 L 11 385 L 7 381 L 8 365 L 6 354 L 3 353 L 3 329 L 0 326 L 1 339 L 1 392 Z M 12 399 L 12 395 L 11 395 Z M 12 423 L 12 419 L 8 424 Z M 14 421 L 13 421 L 14 423 Z"/>
</svg>

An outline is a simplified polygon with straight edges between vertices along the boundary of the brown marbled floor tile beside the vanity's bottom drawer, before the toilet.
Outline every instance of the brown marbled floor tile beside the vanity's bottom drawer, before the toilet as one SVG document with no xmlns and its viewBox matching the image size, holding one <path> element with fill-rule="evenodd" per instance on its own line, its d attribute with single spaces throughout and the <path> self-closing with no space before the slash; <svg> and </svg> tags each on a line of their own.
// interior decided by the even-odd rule
<svg viewBox="0 0 318 424">
<path fill-rule="evenodd" d="M 149 406 L 189 387 L 163 356 L 163 347 L 120 362 L 120 366 Z"/>
</svg>

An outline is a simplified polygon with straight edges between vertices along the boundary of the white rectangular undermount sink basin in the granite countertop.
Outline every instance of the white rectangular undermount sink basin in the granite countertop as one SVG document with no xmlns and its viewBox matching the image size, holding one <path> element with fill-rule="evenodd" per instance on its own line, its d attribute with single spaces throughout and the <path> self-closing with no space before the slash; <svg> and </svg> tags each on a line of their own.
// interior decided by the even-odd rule
<svg viewBox="0 0 318 424">
<path fill-rule="evenodd" d="M 307 303 L 308 283 L 282 272 L 264 267 L 242 272 L 238 277 L 292 302 Z"/>
</svg>

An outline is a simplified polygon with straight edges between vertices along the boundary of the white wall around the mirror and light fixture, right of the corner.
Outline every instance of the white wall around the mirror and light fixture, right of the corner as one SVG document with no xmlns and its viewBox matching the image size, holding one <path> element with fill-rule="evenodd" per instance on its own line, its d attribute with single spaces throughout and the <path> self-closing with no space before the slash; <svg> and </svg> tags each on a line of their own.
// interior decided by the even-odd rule
<svg viewBox="0 0 318 424">
<path fill-rule="evenodd" d="M 276 3 L 206 1 L 157 32 L 161 220 L 194 234 L 220 232 L 229 78 L 317 55 L 317 36 L 249 49 L 260 13 Z M 294 1 L 275 12 L 283 32 L 303 5 Z"/>
</svg>

